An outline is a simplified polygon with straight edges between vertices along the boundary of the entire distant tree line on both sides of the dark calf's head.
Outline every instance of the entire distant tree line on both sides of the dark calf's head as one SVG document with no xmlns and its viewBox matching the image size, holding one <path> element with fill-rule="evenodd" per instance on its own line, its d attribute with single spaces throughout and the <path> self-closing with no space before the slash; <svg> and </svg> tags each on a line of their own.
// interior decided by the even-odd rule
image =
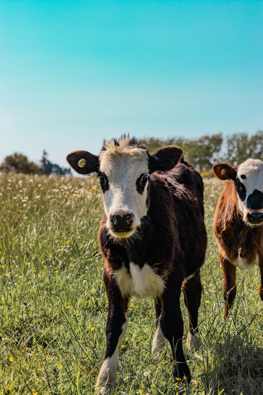
<svg viewBox="0 0 263 395">
<path fill-rule="evenodd" d="M 165 145 L 178 145 L 184 150 L 184 157 L 198 171 L 210 170 L 218 162 L 227 162 L 231 166 L 237 166 L 247 158 L 263 160 L 263 130 L 259 130 L 254 135 L 246 133 L 233 134 L 226 139 L 221 133 L 204 135 L 198 139 L 188 139 L 184 137 L 173 137 L 170 139 L 159 139 L 149 137 L 142 140 L 150 152 Z M 0 165 L 0 171 L 16 171 L 20 173 L 39 173 L 71 175 L 71 169 L 60 167 L 48 160 L 48 154 L 44 150 L 40 165 L 30 162 L 23 154 L 15 153 L 6 156 Z"/>
</svg>

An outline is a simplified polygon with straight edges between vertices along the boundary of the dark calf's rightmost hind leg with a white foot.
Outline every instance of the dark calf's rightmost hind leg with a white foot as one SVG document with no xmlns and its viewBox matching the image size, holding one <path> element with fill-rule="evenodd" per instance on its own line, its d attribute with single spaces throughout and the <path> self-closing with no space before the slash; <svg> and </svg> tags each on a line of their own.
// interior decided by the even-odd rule
<svg viewBox="0 0 263 395">
<path fill-rule="evenodd" d="M 202 343 L 198 331 L 198 308 L 201 303 L 202 285 L 200 280 L 200 270 L 194 277 L 183 282 L 183 294 L 185 306 L 189 316 L 189 331 L 187 335 L 187 346 L 189 350 L 199 350 Z"/>
</svg>

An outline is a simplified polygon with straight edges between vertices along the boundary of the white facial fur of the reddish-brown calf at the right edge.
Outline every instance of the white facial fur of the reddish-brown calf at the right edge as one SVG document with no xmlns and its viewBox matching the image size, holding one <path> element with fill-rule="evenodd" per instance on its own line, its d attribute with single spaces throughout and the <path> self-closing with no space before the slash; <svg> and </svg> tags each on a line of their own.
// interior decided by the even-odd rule
<svg viewBox="0 0 263 395">
<path fill-rule="evenodd" d="M 242 179 L 242 174 L 246 176 L 245 179 Z M 242 201 L 237 194 L 238 207 L 243 214 L 244 221 L 246 221 L 246 216 L 250 212 L 247 207 L 248 196 L 250 196 L 254 190 L 263 191 L 263 162 L 259 159 L 247 159 L 238 166 L 237 178 L 239 178 L 246 188 L 246 199 L 244 201 Z"/>
</svg>

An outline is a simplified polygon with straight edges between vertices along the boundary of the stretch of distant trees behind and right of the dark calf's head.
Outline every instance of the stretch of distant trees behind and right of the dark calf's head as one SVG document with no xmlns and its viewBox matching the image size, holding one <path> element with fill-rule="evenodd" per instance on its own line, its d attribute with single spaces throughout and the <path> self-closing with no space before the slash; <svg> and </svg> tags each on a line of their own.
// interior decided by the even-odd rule
<svg viewBox="0 0 263 395">
<path fill-rule="evenodd" d="M 226 139 L 221 133 L 204 135 L 198 139 L 174 137 L 159 139 L 150 137 L 143 142 L 149 147 L 150 152 L 165 145 L 178 145 L 184 150 L 184 158 L 198 171 L 203 172 L 219 162 L 227 162 L 237 166 L 247 158 L 263 160 L 263 131 L 249 136 L 246 133 L 233 134 Z"/>
</svg>

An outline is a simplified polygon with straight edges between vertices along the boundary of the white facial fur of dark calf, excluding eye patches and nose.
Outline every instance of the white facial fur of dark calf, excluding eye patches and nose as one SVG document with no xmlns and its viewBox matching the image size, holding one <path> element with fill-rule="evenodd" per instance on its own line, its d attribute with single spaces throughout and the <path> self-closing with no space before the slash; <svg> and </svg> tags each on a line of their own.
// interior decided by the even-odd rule
<svg viewBox="0 0 263 395">
<path fill-rule="evenodd" d="M 110 215 L 134 215 L 132 232 L 140 226 L 140 220 L 147 213 L 147 185 L 143 194 L 136 190 L 136 181 L 140 175 L 149 172 L 148 156 L 145 149 L 129 146 L 127 138 L 119 141 L 119 146 L 112 142 L 106 143 L 106 150 L 100 154 L 100 171 L 104 173 L 109 182 L 109 189 L 103 194 L 104 211 L 107 216 L 106 227 L 111 228 Z M 110 233 L 119 237 L 110 229 Z"/>
</svg>

